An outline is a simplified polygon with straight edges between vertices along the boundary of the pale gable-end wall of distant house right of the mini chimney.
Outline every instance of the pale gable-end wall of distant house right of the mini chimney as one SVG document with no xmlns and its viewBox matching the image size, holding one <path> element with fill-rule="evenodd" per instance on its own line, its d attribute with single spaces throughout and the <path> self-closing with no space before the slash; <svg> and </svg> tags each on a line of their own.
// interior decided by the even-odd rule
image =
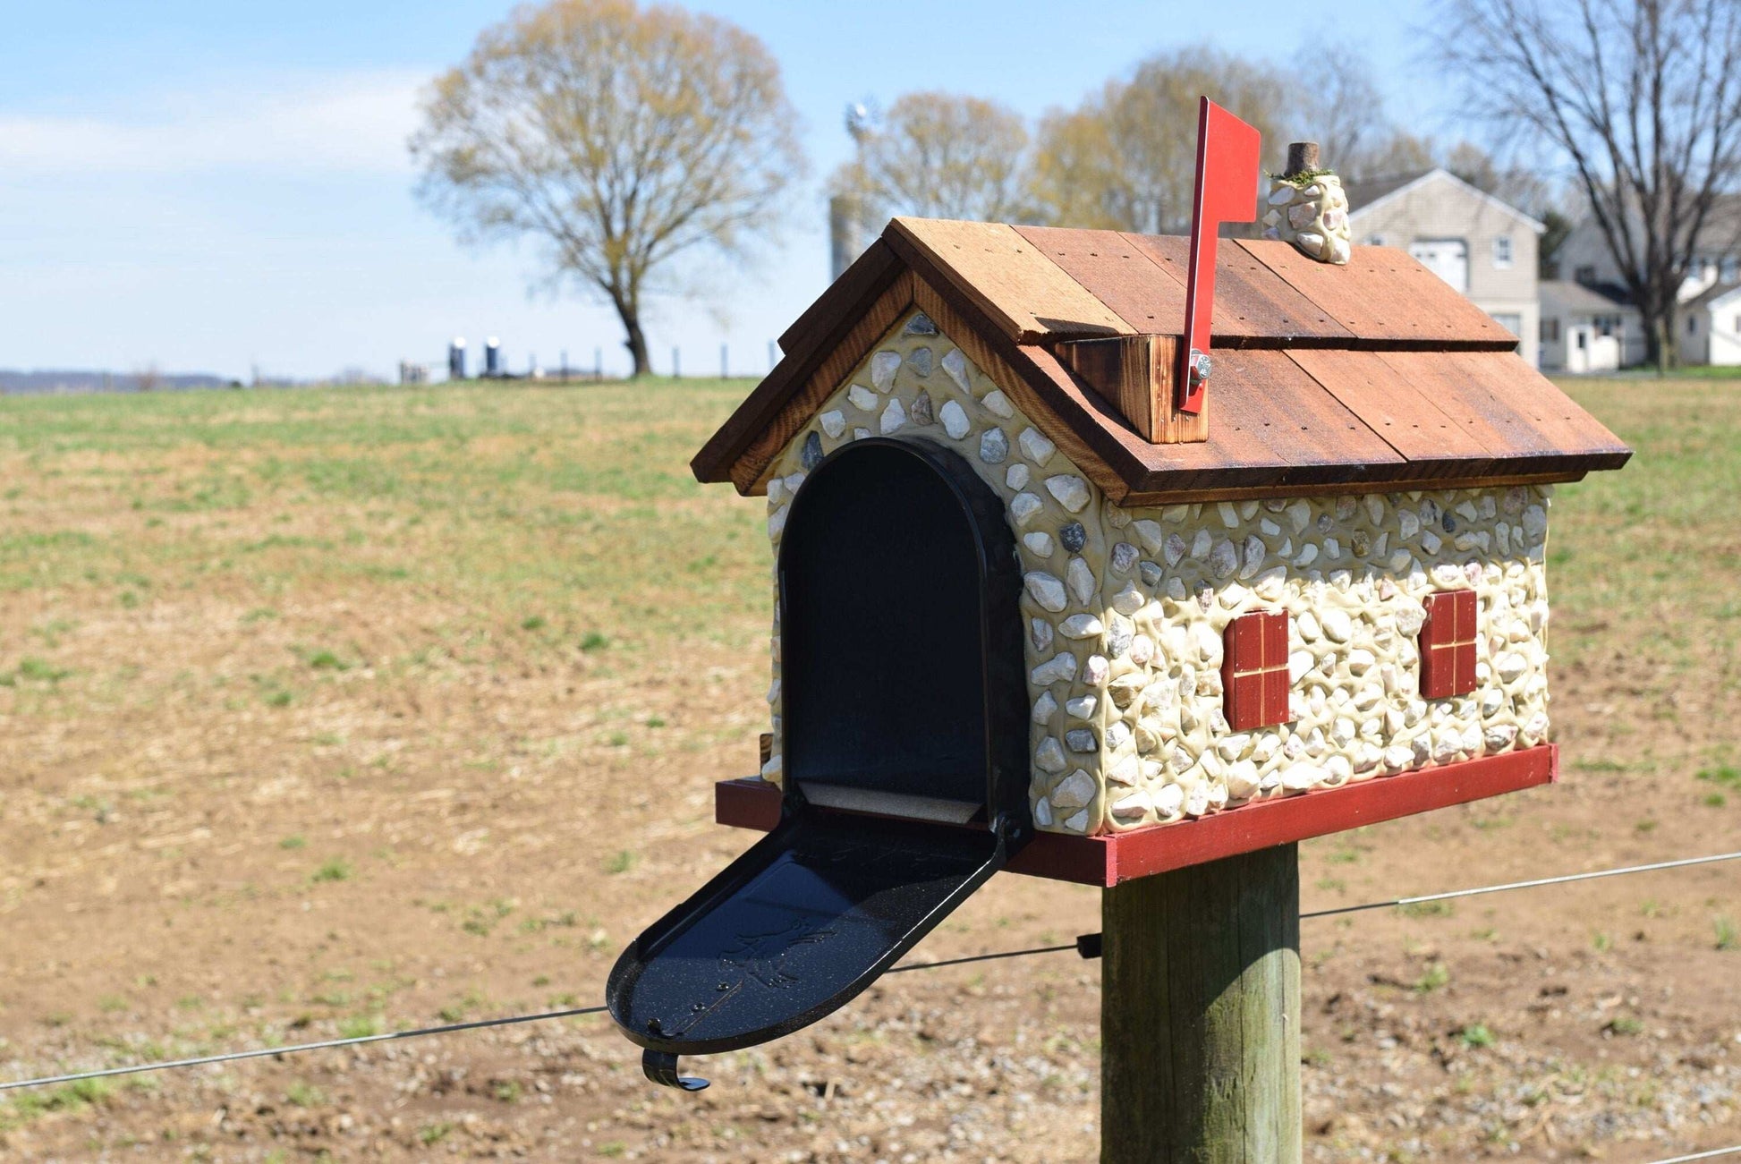
<svg viewBox="0 0 1741 1164">
<path fill-rule="evenodd" d="M 1358 186 L 1356 186 L 1358 191 Z M 1539 364 L 1541 308 L 1536 298 L 1536 224 L 1443 171 L 1349 211 L 1354 245 L 1375 238 L 1408 251 L 1415 244 L 1462 240 L 1468 245 L 1468 287 L 1478 308 L 1516 332 L 1520 353 Z M 1494 240 L 1511 240 L 1511 264 L 1494 263 Z"/>
</svg>

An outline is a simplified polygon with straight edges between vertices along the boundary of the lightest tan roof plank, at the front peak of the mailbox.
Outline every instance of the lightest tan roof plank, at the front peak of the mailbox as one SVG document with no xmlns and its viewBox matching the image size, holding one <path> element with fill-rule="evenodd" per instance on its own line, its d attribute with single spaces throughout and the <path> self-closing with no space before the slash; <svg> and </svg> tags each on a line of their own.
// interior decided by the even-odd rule
<svg viewBox="0 0 1741 1164">
<path fill-rule="evenodd" d="M 1015 343 L 1135 331 L 1003 223 L 897 217 L 883 237 L 923 251 Z"/>
</svg>

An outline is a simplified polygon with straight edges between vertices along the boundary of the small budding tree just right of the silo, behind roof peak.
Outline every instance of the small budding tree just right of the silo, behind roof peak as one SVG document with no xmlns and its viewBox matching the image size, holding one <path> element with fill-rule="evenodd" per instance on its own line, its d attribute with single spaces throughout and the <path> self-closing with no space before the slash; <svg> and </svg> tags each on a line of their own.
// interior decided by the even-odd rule
<svg viewBox="0 0 1741 1164">
<path fill-rule="evenodd" d="M 1027 127 L 1006 104 L 947 92 L 909 92 L 865 136 L 858 160 L 830 186 L 865 214 L 1003 221 L 1020 216 Z"/>
</svg>

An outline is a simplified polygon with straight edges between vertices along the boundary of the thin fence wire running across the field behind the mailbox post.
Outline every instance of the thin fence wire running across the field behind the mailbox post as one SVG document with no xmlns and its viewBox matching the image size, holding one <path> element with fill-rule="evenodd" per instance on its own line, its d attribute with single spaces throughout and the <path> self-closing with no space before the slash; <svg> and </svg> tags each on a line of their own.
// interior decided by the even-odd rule
<svg viewBox="0 0 1741 1164">
<path fill-rule="evenodd" d="M 1313 910 L 1309 913 L 1301 913 L 1301 920 L 1314 917 L 1339 917 L 1342 913 L 1361 913 L 1365 910 L 1386 910 L 1408 905 L 1421 905 L 1424 901 L 1450 901 L 1455 898 L 1476 898 L 1489 893 L 1509 893 L 1513 889 L 1539 889 L 1543 886 L 1565 886 L 1577 880 L 1598 880 L 1602 877 L 1624 877 L 1630 873 L 1654 873 L 1666 868 L 1689 868 L 1692 865 L 1715 865 L 1718 861 L 1736 861 L 1741 860 L 1741 851 L 1738 853 L 1713 853 L 1710 856 L 1689 856 L 1675 861 L 1652 861 L 1649 865 L 1624 865 L 1621 868 L 1600 868 L 1584 873 L 1562 873 L 1560 877 L 1537 877 L 1534 880 L 1511 880 L 1501 886 L 1478 886 L 1475 889 L 1450 889 L 1447 893 L 1429 893 L 1415 898 L 1391 898 L 1388 901 L 1367 901 L 1363 905 L 1344 905 L 1330 910 Z M 937 962 L 907 962 L 888 971 L 890 974 L 905 974 L 911 971 L 923 969 L 944 969 L 947 966 L 968 966 L 973 962 L 998 962 L 1005 959 L 1022 959 L 1038 953 L 1065 953 L 1076 952 L 1085 959 L 1100 957 L 1100 934 L 1083 934 L 1069 945 L 1048 945 L 1048 947 L 1031 947 L 1027 950 L 996 950 L 992 953 L 971 953 L 959 959 L 940 959 Z M 461 1030 L 486 1030 L 489 1027 L 512 1027 L 517 1023 L 541 1023 L 557 1018 L 578 1018 L 581 1014 L 601 1014 L 608 1007 L 602 1006 L 583 1006 L 566 1011 L 541 1011 L 538 1014 L 510 1014 L 507 1018 L 482 1018 L 470 1023 L 447 1023 L 446 1027 L 418 1027 L 414 1030 L 393 1030 L 380 1035 L 355 1035 L 352 1039 L 327 1039 L 324 1042 L 298 1042 L 282 1047 L 254 1047 L 251 1051 L 230 1051 L 226 1054 L 202 1054 L 186 1060 L 165 1060 L 160 1063 L 138 1063 L 134 1067 L 108 1067 L 96 1072 L 73 1072 L 68 1075 L 44 1075 L 40 1079 L 16 1079 L 10 1082 L 0 1082 L 0 1093 L 19 1091 L 24 1087 L 49 1087 L 56 1084 L 73 1084 L 85 1079 L 104 1079 L 110 1075 L 138 1075 L 141 1072 L 164 1072 L 186 1067 L 205 1067 L 211 1063 L 233 1063 L 237 1060 L 259 1060 L 266 1056 L 279 1054 L 299 1054 L 303 1051 L 333 1051 L 338 1047 L 357 1047 L 371 1042 L 393 1042 L 402 1039 L 421 1039 L 425 1035 L 451 1035 Z M 1704 1152 L 1699 1155 L 1677 1155 L 1673 1161 L 1656 1161 L 1656 1164 L 1680 1164 L 1682 1161 L 1706 1161 L 1717 1159 L 1720 1155 L 1741 1154 L 1741 1145 L 1734 1148 L 1717 1148 L 1713 1152 Z"/>
</svg>

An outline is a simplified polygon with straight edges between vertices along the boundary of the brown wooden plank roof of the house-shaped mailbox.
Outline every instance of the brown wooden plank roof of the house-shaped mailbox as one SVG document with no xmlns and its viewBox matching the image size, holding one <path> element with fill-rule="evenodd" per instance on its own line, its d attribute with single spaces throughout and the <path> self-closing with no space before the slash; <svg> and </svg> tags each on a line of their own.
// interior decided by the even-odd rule
<svg viewBox="0 0 1741 1164">
<path fill-rule="evenodd" d="M 1516 336 L 1407 254 L 1327 266 L 1224 240 L 1208 440 L 1149 444 L 1060 341 L 1179 334 L 1189 240 L 897 217 L 780 336 L 780 364 L 691 461 L 761 492 L 780 449 L 919 308 L 1123 505 L 1577 480 L 1631 456 L 1515 355 Z"/>
</svg>

